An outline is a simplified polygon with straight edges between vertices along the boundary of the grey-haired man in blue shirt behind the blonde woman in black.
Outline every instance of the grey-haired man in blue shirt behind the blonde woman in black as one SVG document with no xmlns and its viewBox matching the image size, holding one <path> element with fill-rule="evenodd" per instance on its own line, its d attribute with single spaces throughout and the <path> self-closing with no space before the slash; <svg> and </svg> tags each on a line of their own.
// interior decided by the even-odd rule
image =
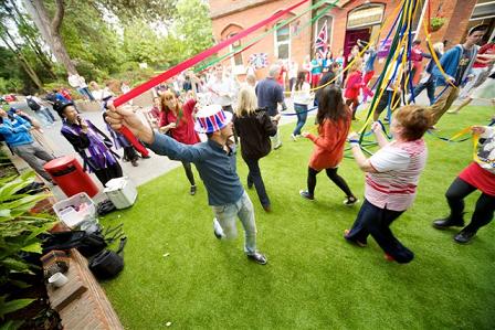
<svg viewBox="0 0 495 330">
<path fill-rule="evenodd" d="M 278 115 L 278 104 L 282 105 L 284 103 L 284 88 L 276 81 L 280 74 L 280 65 L 274 64 L 270 66 L 268 76 L 259 82 L 255 87 L 257 107 L 266 108 L 270 117 L 275 117 Z M 282 147 L 280 129 L 277 129 L 276 135 L 271 139 L 272 143 L 275 143 L 273 149 L 276 150 Z"/>
</svg>

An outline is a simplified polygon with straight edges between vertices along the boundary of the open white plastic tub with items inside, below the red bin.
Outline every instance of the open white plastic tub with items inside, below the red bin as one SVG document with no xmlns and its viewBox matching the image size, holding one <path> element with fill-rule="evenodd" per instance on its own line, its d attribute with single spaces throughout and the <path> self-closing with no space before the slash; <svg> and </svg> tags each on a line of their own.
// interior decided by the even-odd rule
<svg viewBox="0 0 495 330">
<path fill-rule="evenodd" d="M 53 211 L 65 225 L 73 230 L 83 222 L 97 223 L 95 203 L 85 192 L 55 203 Z"/>
</svg>

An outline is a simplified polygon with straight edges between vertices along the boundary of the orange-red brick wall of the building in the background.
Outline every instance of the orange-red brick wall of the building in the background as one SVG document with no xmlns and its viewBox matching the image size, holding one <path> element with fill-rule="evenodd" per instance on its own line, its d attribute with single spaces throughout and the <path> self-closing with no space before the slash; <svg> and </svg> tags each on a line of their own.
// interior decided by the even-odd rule
<svg viewBox="0 0 495 330">
<path fill-rule="evenodd" d="M 447 22 L 436 32 L 432 33 L 432 41 L 443 41 L 444 39 L 449 40 L 450 46 L 460 43 L 465 35 L 465 30 L 468 24 L 468 19 L 471 12 L 476 3 L 476 0 L 430 0 L 431 4 L 431 17 L 436 15 L 438 13 L 447 18 Z M 334 18 L 334 26 L 331 31 L 331 44 L 330 47 L 333 52 L 336 54 L 339 50 L 344 49 L 344 42 L 346 36 L 346 25 L 347 25 L 347 14 L 349 11 L 356 9 L 359 6 L 365 4 L 366 0 L 352 0 L 352 1 L 339 1 L 343 6 L 341 8 L 334 8 L 327 12 L 327 14 Z M 232 29 L 239 28 L 228 28 L 230 24 L 240 25 L 243 29 L 253 25 L 254 23 L 270 17 L 271 14 L 283 10 L 291 4 L 294 4 L 292 0 L 272 0 L 272 1 L 260 1 L 260 0 L 211 0 L 210 8 L 211 12 L 219 12 L 219 8 L 228 8 L 229 6 L 240 6 L 240 3 L 245 4 L 246 10 L 234 12 L 232 14 L 228 14 L 220 18 L 213 18 L 213 33 L 217 41 L 222 40 L 228 35 L 228 33 Z M 261 3 L 260 6 L 254 6 L 256 3 Z M 385 20 L 386 25 L 383 26 L 380 35 L 380 40 L 385 39 L 387 35 L 393 19 L 394 11 L 397 7 L 400 4 L 399 0 L 372 0 L 371 3 L 383 3 L 385 4 Z M 441 10 L 439 10 L 439 6 L 441 4 Z M 296 9 L 293 14 L 301 13 L 303 10 L 307 9 L 308 4 L 304 4 L 301 8 Z M 310 21 L 310 14 L 304 14 L 299 18 L 299 24 L 304 25 L 308 21 Z M 426 19 L 426 14 L 423 17 L 423 20 Z M 224 30 L 228 28 L 227 30 Z M 298 36 L 294 36 L 292 39 L 291 44 L 291 57 L 297 61 L 299 64 L 303 62 L 304 57 L 307 54 L 310 54 L 312 43 L 314 40 L 314 25 L 306 26 Z M 261 35 L 268 28 L 264 28 L 259 30 L 255 33 L 252 33 L 250 36 L 245 38 L 242 42 L 245 44 L 250 40 Z M 424 40 L 424 34 L 422 29 L 420 30 L 419 39 Z M 274 57 L 274 34 L 271 33 L 266 35 L 262 41 L 255 44 L 253 47 L 243 52 L 243 62 L 247 63 L 247 58 L 253 53 L 267 53 L 270 64 L 274 63 L 276 58 Z M 423 45 L 425 49 L 425 45 Z M 223 55 L 228 53 L 230 50 L 222 51 L 219 55 Z M 227 66 L 231 65 L 230 60 L 224 61 L 223 63 Z M 381 71 L 382 64 L 378 63 L 377 73 Z M 266 70 L 259 71 L 259 78 L 263 77 L 266 74 Z"/>
</svg>

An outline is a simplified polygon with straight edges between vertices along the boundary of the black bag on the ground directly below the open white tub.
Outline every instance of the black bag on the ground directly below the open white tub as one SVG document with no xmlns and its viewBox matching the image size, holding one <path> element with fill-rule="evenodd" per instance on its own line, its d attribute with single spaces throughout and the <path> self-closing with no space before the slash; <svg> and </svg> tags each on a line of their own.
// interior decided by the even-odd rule
<svg viewBox="0 0 495 330">
<path fill-rule="evenodd" d="M 85 231 L 71 231 L 53 233 L 45 236 L 43 242 L 43 254 L 52 249 L 77 248 L 85 256 L 91 257 L 107 246 L 102 233 L 86 233 Z"/>
</svg>

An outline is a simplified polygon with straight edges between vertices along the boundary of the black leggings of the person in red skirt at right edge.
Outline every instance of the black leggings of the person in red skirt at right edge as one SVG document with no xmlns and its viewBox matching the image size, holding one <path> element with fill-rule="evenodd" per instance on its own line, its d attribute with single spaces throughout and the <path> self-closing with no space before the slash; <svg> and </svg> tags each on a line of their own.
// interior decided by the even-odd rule
<svg viewBox="0 0 495 330">
<path fill-rule="evenodd" d="M 461 178 L 455 178 L 445 193 L 446 201 L 451 207 L 450 219 L 462 221 L 464 214 L 464 198 L 475 191 L 476 188 L 465 182 Z M 482 226 L 487 225 L 493 220 L 495 212 L 495 196 L 482 193 L 476 201 L 471 223 L 464 228 L 466 232 L 476 233 Z"/>
</svg>

